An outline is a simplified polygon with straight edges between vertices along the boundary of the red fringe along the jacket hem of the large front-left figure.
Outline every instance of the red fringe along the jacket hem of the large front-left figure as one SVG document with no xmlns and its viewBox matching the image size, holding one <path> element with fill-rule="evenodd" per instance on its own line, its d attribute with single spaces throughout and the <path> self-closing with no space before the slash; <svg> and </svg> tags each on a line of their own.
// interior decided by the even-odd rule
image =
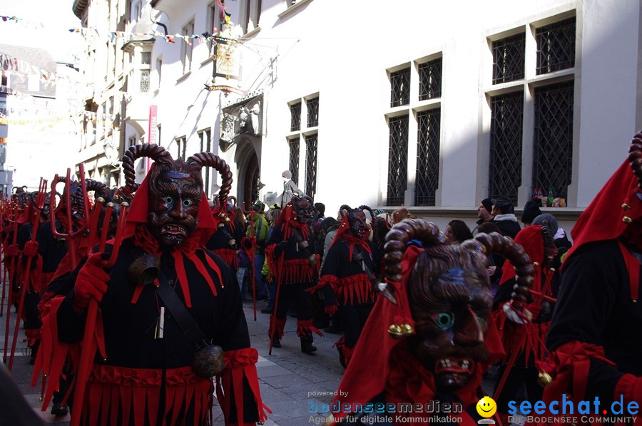
<svg viewBox="0 0 642 426">
<path fill-rule="evenodd" d="M 88 378 L 83 402 L 83 423 L 88 425 L 127 425 L 133 417 L 135 426 L 156 425 L 161 405 L 162 370 L 98 365 Z M 172 368 L 165 372 L 167 392 L 163 417 L 172 425 L 183 424 L 181 411 L 193 407 L 198 425 L 212 425 L 214 386 L 199 378 L 191 367 Z M 118 417 L 118 407 L 121 416 Z"/>
</svg>

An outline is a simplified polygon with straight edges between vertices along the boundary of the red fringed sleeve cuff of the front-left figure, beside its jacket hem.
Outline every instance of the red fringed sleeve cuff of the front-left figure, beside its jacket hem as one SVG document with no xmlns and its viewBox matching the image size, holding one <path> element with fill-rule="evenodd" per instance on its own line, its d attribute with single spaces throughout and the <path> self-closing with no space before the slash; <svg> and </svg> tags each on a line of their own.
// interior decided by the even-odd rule
<svg viewBox="0 0 642 426">
<path fill-rule="evenodd" d="M 285 323 L 285 321 L 284 321 Z M 267 420 L 265 411 L 272 413 L 267 405 L 263 404 L 261 393 L 258 383 L 258 375 L 256 373 L 256 362 L 258 361 L 258 353 L 255 348 L 245 348 L 239 350 L 227 350 L 223 354 L 225 360 L 225 368 L 216 376 L 216 395 L 220 408 L 225 415 L 225 425 L 238 424 L 245 425 L 244 415 L 244 401 L 243 401 L 243 378 L 248 380 L 250 389 L 254 395 L 256 406 L 258 407 L 258 419 L 260 422 Z M 231 423 L 230 409 L 232 398 L 230 395 L 230 388 L 234 392 L 235 409 L 238 419 L 235 423 Z M 254 425 L 254 423 L 247 423 Z"/>
</svg>

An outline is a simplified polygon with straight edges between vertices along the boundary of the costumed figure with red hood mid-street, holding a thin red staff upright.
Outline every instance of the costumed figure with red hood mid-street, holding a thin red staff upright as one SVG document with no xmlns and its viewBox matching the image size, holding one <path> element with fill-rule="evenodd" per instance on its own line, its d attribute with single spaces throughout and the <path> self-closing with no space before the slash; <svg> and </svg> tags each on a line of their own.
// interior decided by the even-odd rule
<svg viewBox="0 0 642 426">
<path fill-rule="evenodd" d="M 270 316 L 270 345 L 281 347 L 287 308 L 295 303 L 297 310 L 297 336 L 301 340 L 301 352 L 313 353 L 312 333 L 323 336 L 312 325 L 310 313 L 310 292 L 318 275 L 319 256 L 311 248 L 313 236 L 307 221 L 310 217 L 312 199 L 309 197 L 293 197 L 277 220 L 272 230 L 265 255 L 270 264 L 270 270 L 277 283 L 277 297 L 274 313 Z M 270 347 L 271 350 L 271 347 Z"/>
</svg>

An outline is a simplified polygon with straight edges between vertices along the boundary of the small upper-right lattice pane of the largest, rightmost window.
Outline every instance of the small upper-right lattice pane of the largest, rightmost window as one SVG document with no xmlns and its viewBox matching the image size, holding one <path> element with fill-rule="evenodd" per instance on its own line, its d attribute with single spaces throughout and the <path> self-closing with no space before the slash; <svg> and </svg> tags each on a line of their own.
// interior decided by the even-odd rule
<svg viewBox="0 0 642 426">
<path fill-rule="evenodd" d="M 537 75 L 575 66 L 575 17 L 535 31 Z"/>
</svg>

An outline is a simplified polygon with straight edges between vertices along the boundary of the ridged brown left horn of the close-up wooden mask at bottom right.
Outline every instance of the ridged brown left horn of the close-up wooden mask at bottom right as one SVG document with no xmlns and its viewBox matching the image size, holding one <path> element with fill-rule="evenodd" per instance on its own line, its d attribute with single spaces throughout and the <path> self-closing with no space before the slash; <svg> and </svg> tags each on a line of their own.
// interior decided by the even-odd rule
<svg viewBox="0 0 642 426">
<path fill-rule="evenodd" d="M 404 219 L 394 224 L 386 235 L 386 244 L 384 244 L 384 263 L 388 281 L 402 281 L 401 259 L 406 251 L 406 244 L 411 239 L 421 240 L 424 246 L 445 242 L 444 235 L 432 222 L 423 219 Z"/>
</svg>

